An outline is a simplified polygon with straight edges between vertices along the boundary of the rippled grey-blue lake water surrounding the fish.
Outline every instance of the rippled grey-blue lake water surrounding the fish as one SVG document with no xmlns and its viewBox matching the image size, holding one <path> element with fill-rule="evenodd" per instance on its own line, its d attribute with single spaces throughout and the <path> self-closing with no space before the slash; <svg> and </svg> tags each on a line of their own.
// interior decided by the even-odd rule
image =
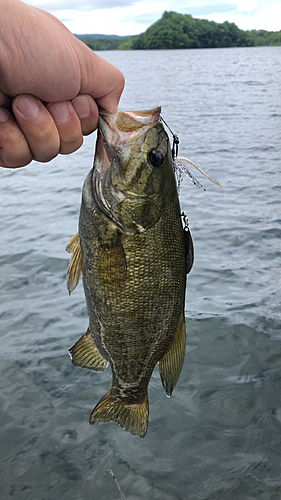
<svg viewBox="0 0 281 500">
<path fill-rule="evenodd" d="M 111 374 L 71 364 L 86 331 L 68 296 L 95 137 L 50 164 L 0 169 L 0 497 L 117 500 L 281 498 L 281 47 L 104 52 L 125 73 L 122 109 L 162 105 L 180 154 L 225 187 L 188 178 L 195 264 L 187 352 L 168 399 L 156 369 L 144 440 L 89 426 Z M 198 177 L 199 178 L 199 177 Z"/>
</svg>

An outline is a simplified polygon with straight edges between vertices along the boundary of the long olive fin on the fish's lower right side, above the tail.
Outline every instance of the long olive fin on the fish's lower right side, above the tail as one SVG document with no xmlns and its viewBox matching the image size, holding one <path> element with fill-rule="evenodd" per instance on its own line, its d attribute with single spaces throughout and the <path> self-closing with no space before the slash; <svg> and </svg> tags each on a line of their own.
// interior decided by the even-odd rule
<svg viewBox="0 0 281 500">
<path fill-rule="evenodd" d="M 159 361 L 160 376 L 167 396 L 171 396 L 179 379 L 185 356 L 185 345 L 185 318 L 182 314 L 172 343 Z"/>
</svg>

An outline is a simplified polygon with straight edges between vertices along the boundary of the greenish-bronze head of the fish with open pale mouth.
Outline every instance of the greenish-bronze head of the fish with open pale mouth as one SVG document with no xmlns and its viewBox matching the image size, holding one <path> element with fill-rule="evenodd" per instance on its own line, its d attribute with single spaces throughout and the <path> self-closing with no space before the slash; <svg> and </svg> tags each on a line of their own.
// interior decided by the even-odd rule
<svg viewBox="0 0 281 500">
<path fill-rule="evenodd" d="M 127 234 L 142 233 L 161 215 L 165 182 L 174 182 L 168 136 L 159 121 L 161 108 L 108 113 L 99 118 L 93 168 L 93 196 L 98 208 Z M 154 168 L 152 151 L 163 164 Z"/>
</svg>

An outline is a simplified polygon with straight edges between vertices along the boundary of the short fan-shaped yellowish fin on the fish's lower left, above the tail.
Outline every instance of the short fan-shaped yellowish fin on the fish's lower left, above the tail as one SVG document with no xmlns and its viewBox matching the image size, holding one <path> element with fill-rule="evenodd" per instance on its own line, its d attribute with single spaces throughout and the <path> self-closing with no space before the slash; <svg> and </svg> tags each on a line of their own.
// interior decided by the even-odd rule
<svg viewBox="0 0 281 500">
<path fill-rule="evenodd" d="M 103 371 L 108 361 L 99 352 L 94 340 L 92 339 L 90 328 L 82 337 L 69 349 L 68 354 L 74 365 L 89 368 L 96 372 Z"/>
</svg>

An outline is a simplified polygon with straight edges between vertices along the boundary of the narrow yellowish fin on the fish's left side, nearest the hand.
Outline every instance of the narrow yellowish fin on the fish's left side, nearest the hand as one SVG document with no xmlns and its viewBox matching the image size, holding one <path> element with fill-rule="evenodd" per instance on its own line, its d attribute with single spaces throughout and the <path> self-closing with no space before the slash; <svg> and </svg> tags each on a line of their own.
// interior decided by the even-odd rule
<svg viewBox="0 0 281 500">
<path fill-rule="evenodd" d="M 67 290 L 69 295 L 77 287 L 82 276 L 82 248 L 79 234 L 76 233 L 69 240 L 66 251 L 72 253 L 67 269 Z"/>
</svg>

